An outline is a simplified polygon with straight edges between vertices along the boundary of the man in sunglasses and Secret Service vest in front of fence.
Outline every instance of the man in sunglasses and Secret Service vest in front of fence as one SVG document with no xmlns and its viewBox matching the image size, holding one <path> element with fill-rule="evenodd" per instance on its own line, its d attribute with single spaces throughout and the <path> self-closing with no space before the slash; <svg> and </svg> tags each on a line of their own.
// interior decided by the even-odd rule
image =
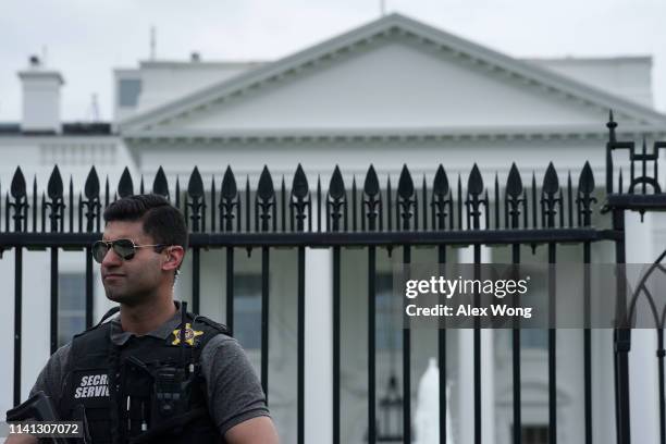
<svg viewBox="0 0 666 444">
<path fill-rule="evenodd" d="M 120 317 L 58 349 L 30 395 L 44 391 L 61 419 L 82 419 L 85 411 L 96 444 L 278 443 L 237 342 L 173 300 L 187 248 L 181 212 L 160 196 L 138 195 L 113 202 L 103 215 L 92 255 Z M 8 441 L 22 442 L 37 440 Z"/>
</svg>

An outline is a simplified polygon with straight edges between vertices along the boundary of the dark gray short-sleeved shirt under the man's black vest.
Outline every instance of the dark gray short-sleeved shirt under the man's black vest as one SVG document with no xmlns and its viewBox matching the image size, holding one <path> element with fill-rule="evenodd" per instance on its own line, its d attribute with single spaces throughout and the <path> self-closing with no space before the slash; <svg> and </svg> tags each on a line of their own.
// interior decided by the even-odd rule
<svg viewBox="0 0 666 444">
<path fill-rule="evenodd" d="M 111 341 L 115 344 L 123 345 L 133 336 L 122 331 L 118 319 L 110 322 L 113 323 Z M 147 335 L 166 340 L 180 323 L 181 317 L 176 313 Z M 72 343 L 63 345 L 49 358 L 30 390 L 30 396 L 44 391 L 54 405 L 60 403 L 71 346 Z M 201 350 L 201 372 L 206 380 L 208 410 L 220 434 L 224 435 L 229 429 L 248 419 L 269 416 L 261 384 L 245 351 L 233 337 L 219 334 L 206 344 Z"/>
</svg>

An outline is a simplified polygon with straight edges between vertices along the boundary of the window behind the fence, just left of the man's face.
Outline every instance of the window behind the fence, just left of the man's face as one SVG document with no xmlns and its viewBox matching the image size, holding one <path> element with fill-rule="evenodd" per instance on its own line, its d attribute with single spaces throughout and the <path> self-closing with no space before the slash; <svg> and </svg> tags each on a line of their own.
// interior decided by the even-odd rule
<svg viewBox="0 0 666 444">
<path fill-rule="evenodd" d="M 86 276 L 83 273 L 59 275 L 58 346 L 86 329 Z"/>
</svg>

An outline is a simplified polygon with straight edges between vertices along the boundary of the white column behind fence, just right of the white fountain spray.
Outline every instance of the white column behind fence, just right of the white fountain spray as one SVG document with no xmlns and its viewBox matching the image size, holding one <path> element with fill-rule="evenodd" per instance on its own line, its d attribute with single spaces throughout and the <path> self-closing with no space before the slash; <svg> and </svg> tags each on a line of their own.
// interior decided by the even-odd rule
<svg viewBox="0 0 666 444">
<path fill-rule="evenodd" d="M 473 263 L 473 247 L 460 249 L 460 263 Z M 481 262 L 490 263 L 491 250 L 481 247 Z M 481 330 L 481 440 L 495 442 L 495 384 L 493 330 Z M 474 363 L 473 330 L 458 330 L 458 441 L 472 443 L 474 434 Z"/>
</svg>

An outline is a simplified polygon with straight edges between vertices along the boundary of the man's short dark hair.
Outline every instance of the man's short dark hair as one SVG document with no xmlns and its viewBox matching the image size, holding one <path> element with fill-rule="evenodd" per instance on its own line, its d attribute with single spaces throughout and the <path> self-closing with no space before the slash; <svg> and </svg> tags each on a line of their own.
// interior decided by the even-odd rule
<svg viewBox="0 0 666 444">
<path fill-rule="evenodd" d="M 160 195 L 123 197 L 104 210 L 104 223 L 143 221 L 144 233 L 156 244 L 180 245 L 187 250 L 187 225 L 183 213 Z"/>
</svg>

